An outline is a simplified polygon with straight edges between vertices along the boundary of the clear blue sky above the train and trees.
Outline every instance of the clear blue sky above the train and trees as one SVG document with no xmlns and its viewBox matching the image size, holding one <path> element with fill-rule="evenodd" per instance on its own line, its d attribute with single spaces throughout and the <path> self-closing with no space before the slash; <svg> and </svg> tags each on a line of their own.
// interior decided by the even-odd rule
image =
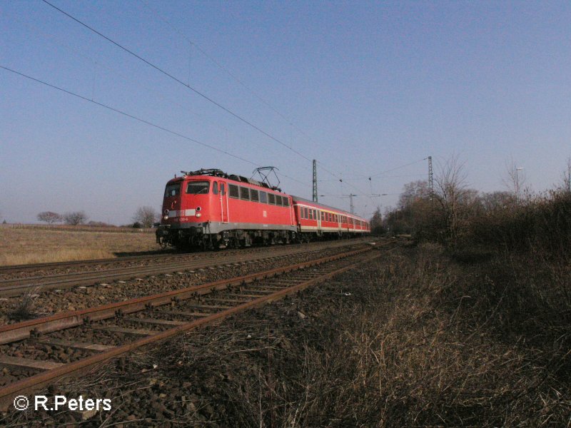
<svg viewBox="0 0 571 428">
<path fill-rule="evenodd" d="M 504 188 L 510 160 L 551 188 L 571 156 L 569 1 L 51 2 L 317 158 L 320 200 L 357 193 L 361 215 L 426 178 L 429 155 L 457 155 L 482 191 Z M 0 65 L 274 165 L 311 197 L 309 161 L 40 0 L 0 2 Z M 1 218 L 128 223 L 198 168 L 254 166 L 0 69 Z"/>
</svg>

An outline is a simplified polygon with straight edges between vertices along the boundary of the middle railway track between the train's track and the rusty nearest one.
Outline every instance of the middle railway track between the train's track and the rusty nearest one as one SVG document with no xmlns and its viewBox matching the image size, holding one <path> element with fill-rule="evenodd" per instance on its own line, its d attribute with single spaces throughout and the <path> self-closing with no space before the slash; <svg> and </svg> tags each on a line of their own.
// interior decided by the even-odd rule
<svg viewBox="0 0 571 428">
<path fill-rule="evenodd" d="M 269 251 L 256 251 L 255 253 L 229 253 L 226 257 L 199 258 L 198 260 L 183 260 L 174 263 L 161 263 L 159 265 L 141 265 L 127 267 L 113 267 L 103 270 L 92 270 L 89 272 L 66 272 L 54 275 L 15 277 L 0 280 L 0 297 L 12 297 L 21 295 L 29 290 L 45 291 L 55 289 L 65 289 L 78 285 L 94 285 L 101 282 L 111 282 L 116 280 L 129 280 L 133 277 L 143 277 L 148 275 L 168 274 L 181 270 L 206 269 L 208 267 L 218 267 L 221 265 L 232 265 L 236 263 L 251 263 L 260 260 L 275 258 L 286 258 L 290 255 L 310 253 L 325 248 L 339 248 L 347 245 L 355 245 L 363 240 L 346 240 L 328 243 L 325 245 L 301 245 L 298 248 L 278 247 Z M 220 253 L 213 253 L 220 254 Z"/>
</svg>

